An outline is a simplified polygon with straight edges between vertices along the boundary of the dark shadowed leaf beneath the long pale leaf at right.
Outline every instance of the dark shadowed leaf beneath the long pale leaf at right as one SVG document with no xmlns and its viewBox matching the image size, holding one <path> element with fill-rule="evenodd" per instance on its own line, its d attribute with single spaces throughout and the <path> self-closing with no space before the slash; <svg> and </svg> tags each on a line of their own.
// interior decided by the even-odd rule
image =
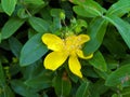
<svg viewBox="0 0 130 97">
<path fill-rule="evenodd" d="M 110 25 L 107 28 L 107 32 L 103 40 L 103 45 L 108 50 L 112 56 L 118 59 L 123 58 L 126 56 L 126 50 L 128 48 L 127 46 L 125 46 L 125 44 L 121 41 L 122 40 L 119 39 L 119 34 L 115 29 L 115 27 Z M 113 60 L 113 59 L 109 59 L 109 60 Z M 109 65 L 109 66 L 113 66 L 113 65 Z"/>
</svg>

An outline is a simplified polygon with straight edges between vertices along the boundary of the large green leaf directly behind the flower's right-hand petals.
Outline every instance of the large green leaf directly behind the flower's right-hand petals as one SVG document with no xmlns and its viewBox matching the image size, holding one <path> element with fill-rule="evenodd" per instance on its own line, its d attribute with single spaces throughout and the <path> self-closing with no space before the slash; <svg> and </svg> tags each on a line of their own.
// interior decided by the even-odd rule
<svg viewBox="0 0 130 97">
<path fill-rule="evenodd" d="M 91 22 L 87 32 L 87 34 L 90 36 L 90 41 L 87 42 L 83 47 L 86 55 L 95 52 L 100 47 L 106 31 L 106 27 L 107 22 L 103 18 L 95 18 Z"/>
</svg>

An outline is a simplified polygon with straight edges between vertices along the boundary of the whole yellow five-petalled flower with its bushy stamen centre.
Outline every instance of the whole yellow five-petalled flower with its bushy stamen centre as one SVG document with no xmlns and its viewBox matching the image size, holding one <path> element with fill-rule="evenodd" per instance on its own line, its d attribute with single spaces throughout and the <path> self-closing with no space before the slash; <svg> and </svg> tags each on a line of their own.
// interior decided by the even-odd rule
<svg viewBox="0 0 130 97">
<path fill-rule="evenodd" d="M 65 39 L 61 39 L 55 34 L 44 33 L 42 36 L 42 41 L 49 50 L 53 51 L 44 58 L 43 64 L 46 69 L 56 70 L 65 63 L 67 57 L 69 57 L 68 67 L 70 71 L 79 78 L 82 78 L 80 71 L 81 65 L 78 60 L 78 56 L 83 59 L 89 59 L 93 56 L 93 54 L 84 56 L 81 51 L 81 45 L 89 40 L 90 38 L 87 34 L 73 34 Z"/>
</svg>

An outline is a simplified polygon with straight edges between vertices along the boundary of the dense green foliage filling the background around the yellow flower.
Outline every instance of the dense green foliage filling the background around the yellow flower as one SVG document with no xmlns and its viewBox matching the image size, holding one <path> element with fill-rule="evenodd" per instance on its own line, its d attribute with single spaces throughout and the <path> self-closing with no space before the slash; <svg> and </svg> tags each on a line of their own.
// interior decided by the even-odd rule
<svg viewBox="0 0 130 97">
<path fill-rule="evenodd" d="M 90 37 L 83 78 L 44 68 L 44 33 Z M 0 0 L 0 97 L 130 97 L 130 0 Z"/>
</svg>

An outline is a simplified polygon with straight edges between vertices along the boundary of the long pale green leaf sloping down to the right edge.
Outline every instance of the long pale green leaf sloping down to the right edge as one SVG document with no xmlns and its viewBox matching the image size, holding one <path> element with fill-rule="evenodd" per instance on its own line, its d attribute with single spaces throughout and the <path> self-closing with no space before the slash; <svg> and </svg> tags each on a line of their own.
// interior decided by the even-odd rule
<svg viewBox="0 0 130 97">
<path fill-rule="evenodd" d="M 115 15 L 104 16 L 104 18 L 110 22 L 114 26 L 116 26 L 120 36 L 130 48 L 130 25 Z"/>
</svg>

